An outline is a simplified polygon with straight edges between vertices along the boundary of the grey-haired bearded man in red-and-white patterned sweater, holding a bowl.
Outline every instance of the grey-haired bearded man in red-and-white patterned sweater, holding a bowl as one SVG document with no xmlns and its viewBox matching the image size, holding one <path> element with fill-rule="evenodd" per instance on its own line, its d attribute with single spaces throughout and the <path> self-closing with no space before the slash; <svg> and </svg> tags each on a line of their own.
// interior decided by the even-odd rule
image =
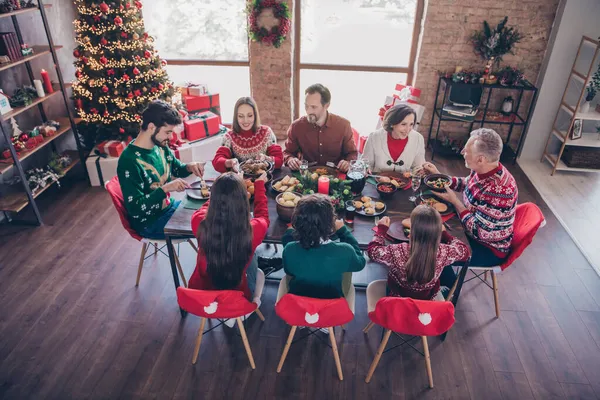
<svg viewBox="0 0 600 400">
<path fill-rule="evenodd" d="M 502 148 L 502 138 L 494 130 L 471 132 L 461 152 L 471 173 L 453 177 L 452 190 L 436 193 L 456 208 L 471 245 L 473 266 L 500 265 L 510 252 L 518 190 L 515 178 L 500 163 Z M 424 169 L 438 173 L 431 163 Z M 454 191 L 463 193 L 462 200 Z"/>
</svg>

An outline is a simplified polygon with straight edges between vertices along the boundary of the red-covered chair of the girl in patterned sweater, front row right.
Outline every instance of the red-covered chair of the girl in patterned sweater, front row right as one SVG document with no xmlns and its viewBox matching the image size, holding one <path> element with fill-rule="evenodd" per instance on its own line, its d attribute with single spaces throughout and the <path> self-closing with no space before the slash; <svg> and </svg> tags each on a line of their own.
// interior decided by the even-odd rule
<svg viewBox="0 0 600 400">
<path fill-rule="evenodd" d="M 392 332 L 411 335 L 413 338 L 403 339 L 404 344 L 413 347 L 409 342 L 414 337 L 421 336 L 425 356 L 425 367 L 429 378 L 429 387 L 433 388 L 433 375 L 431 372 L 431 359 L 427 336 L 438 336 L 447 332 L 454 324 L 454 305 L 449 301 L 415 300 L 409 297 L 385 297 L 387 282 L 385 280 L 373 281 L 367 286 L 367 309 L 369 324 L 363 329 L 369 332 L 374 324 L 384 329 L 383 339 L 377 349 L 375 358 L 371 363 L 365 382 L 369 383 L 379 364 L 385 346 Z M 390 349 L 391 350 L 391 349 Z"/>
</svg>

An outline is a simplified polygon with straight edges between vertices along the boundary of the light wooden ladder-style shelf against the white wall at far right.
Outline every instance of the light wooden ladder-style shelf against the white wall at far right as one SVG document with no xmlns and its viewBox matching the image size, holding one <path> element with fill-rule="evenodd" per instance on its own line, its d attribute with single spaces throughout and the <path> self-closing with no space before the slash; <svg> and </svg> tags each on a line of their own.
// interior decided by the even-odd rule
<svg viewBox="0 0 600 400">
<path fill-rule="evenodd" d="M 569 80 L 567 81 L 562 99 L 560 100 L 560 107 L 554 116 L 552 130 L 548 134 L 548 139 L 546 140 L 544 154 L 540 160 L 540 162 L 547 161 L 552 165 L 551 175 L 554 175 L 556 171 L 600 172 L 600 168 L 569 167 L 561 159 L 567 146 L 600 148 L 600 136 L 596 132 L 582 132 L 581 138 L 571 138 L 571 132 L 576 120 L 581 120 L 582 123 L 585 121 L 600 121 L 600 113 L 594 109 L 590 109 L 585 113 L 578 111 L 584 102 L 586 95 L 585 88 L 598 66 L 599 55 L 600 43 L 597 40 L 583 36 L 579 43 L 579 49 L 577 50 L 575 60 L 573 60 L 573 67 L 569 74 Z M 582 67 L 585 70 L 584 72 L 581 71 Z M 581 88 L 577 89 L 578 86 Z M 561 113 L 568 116 L 567 129 L 560 126 L 561 121 L 559 116 Z M 555 150 L 556 142 L 552 143 L 553 138 L 557 139 L 560 143 L 558 152 Z M 598 152 L 598 157 L 600 157 L 600 150 Z"/>
</svg>

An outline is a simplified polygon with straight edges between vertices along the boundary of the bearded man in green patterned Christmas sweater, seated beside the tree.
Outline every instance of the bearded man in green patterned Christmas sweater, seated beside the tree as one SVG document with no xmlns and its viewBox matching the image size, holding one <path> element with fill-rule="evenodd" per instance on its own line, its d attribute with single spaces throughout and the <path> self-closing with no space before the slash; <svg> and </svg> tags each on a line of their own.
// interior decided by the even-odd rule
<svg viewBox="0 0 600 400">
<path fill-rule="evenodd" d="M 203 163 L 184 164 L 168 147 L 181 122 L 173 106 L 161 100 L 151 102 L 142 113 L 140 133 L 119 157 L 117 175 L 129 222 L 148 239 L 165 238 L 165 225 L 181 203 L 171 200 L 170 193 L 189 187 L 181 178 L 204 173 Z"/>
</svg>

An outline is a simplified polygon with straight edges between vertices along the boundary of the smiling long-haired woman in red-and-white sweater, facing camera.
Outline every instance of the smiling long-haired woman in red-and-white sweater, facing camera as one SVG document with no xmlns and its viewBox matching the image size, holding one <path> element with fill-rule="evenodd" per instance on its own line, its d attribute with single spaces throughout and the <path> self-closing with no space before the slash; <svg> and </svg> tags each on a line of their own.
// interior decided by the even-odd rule
<svg viewBox="0 0 600 400">
<path fill-rule="evenodd" d="M 223 135 L 213 167 L 225 172 L 234 169 L 236 163 L 250 159 L 272 161 L 278 169 L 283 164 L 283 152 L 271 128 L 260 124 L 254 99 L 241 97 L 233 109 L 232 129 Z"/>
</svg>

